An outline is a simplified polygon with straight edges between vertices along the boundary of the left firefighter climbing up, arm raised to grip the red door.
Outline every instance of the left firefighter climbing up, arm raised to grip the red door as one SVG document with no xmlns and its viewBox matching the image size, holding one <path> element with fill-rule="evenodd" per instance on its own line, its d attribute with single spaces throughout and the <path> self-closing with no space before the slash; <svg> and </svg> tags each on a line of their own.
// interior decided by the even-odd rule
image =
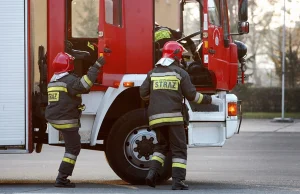
<svg viewBox="0 0 300 194">
<path fill-rule="evenodd" d="M 67 53 L 58 53 L 52 63 L 54 75 L 48 84 L 49 103 L 45 117 L 52 127 L 62 133 L 65 141 L 65 154 L 58 170 L 55 187 L 75 187 L 67 177 L 72 175 L 81 149 L 78 131 L 81 112 L 85 108 L 81 104 L 81 94 L 89 93 L 104 63 L 104 57 L 98 58 L 82 77 L 72 73 L 74 57 Z"/>
</svg>

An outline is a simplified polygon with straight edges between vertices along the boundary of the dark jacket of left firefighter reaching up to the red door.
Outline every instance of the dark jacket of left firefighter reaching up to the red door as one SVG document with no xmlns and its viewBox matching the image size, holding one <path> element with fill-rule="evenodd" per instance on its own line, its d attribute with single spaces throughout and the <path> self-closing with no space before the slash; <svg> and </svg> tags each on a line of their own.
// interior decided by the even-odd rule
<svg viewBox="0 0 300 194">
<path fill-rule="evenodd" d="M 78 77 L 65 73 L 61 78 L 53 75 L 48 84 L 48 102 L 45 117 L 56 129 L 80 127 L 83 109 L 81 94 L 88 93 L 98 75 L 99 66 L 94 64 L 87 75 Z"/>
</svg>

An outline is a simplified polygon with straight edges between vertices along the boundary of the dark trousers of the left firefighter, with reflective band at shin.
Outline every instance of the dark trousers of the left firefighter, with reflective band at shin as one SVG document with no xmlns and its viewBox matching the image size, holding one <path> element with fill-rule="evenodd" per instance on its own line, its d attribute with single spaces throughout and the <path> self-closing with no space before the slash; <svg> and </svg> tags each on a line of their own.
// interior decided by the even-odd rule
<svg viewBox="0 0 300 194">
<path fill-rule="evenodd" d="M 65 154 L 58 171 L 63 175 L 71 176 L 81 149 L 80 135 L 78 133 L 79 128 L 60 131 L 65 141 Z"/>
</svg>

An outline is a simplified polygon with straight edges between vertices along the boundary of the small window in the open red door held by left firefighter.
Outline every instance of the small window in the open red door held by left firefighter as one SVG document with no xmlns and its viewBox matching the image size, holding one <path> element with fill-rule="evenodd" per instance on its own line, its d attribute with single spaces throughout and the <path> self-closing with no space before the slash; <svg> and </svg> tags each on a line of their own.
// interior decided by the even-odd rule
<svg viewBox="0 0 300 194">
<path fill-rule="evenodd" d="M 105 0 L 105 21 L 122 27 L 122 0 Z"/>
</svg>

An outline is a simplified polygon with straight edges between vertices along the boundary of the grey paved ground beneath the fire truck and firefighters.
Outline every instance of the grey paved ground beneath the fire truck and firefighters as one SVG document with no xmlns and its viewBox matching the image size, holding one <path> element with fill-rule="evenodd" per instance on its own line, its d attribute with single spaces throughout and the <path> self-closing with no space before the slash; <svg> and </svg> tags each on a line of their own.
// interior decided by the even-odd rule
<svg viewBox="0 0 300 194">
<path fill-rule="evenodd" d="M 244 120 L 241 133 L 222 148 L 188 150 L 184 193 L 300 193 L 300 122 Z M 182 193 L 171 182 L 156 189 L 129 185 L 106 163 L 103 152 L 82 150 L 75 189 L 54 188 L 64 149 L 45 146 L 40 154 L 0 155 L 0 193 Z"/>
</svg>

